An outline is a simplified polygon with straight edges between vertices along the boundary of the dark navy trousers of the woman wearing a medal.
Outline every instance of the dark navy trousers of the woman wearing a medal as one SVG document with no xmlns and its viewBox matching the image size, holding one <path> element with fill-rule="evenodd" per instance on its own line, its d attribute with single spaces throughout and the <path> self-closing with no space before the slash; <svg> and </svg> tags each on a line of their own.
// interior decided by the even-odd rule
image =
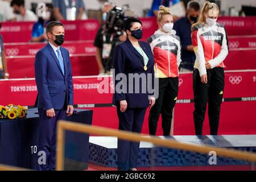
<svg viewBox="0 0 256 182">
<path fill-rule="evenodd" d="M 120 111 L 117 106 L 119 119 L 119 130 L 141 133 L 142 124 L 147 108 L 127 108 L 125 112 Z M 119 170 L 129 170 L 137 167 L 139 154 L 139 142 L 118 139 L 117 142 L 117 163 Z"/>
</svg>

